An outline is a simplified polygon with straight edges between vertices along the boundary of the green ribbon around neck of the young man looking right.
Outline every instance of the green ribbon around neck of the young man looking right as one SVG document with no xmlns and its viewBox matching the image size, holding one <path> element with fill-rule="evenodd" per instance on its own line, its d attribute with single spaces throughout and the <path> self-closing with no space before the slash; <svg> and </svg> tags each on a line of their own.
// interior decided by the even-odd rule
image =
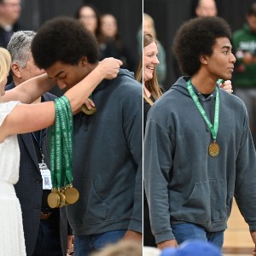
<svg viewBox="0 0 256 256">
<path fill-rule="evenodd" d="M 216 139 L 217 139 L 217 133 L 218 133 L 218 116 L 219 116 L 218 87 L 216 87 L 216 102 L 215 102 L 215 113 L 214 113 L 214 124 L 213 125 L 211 124 L 210 120 L 208 119 L 206 111 L 201 106 L 201 103 L 199 102 L 198 97 L 195 94 L 195 91 L 191 84 L 191 79 L 189 79 L 189 81 L 187 82 L 187 88 L 189 90 L 189 94 L 190 94 L 191 98 L 195 102 L 195 106 L 198 108 L 199 112 L 201 113 L 201 116 L 206 121 L 206 123 L 211 131 L 211 134 L 212 134 L 213 143 L 215 143 Z"/>
</svg>

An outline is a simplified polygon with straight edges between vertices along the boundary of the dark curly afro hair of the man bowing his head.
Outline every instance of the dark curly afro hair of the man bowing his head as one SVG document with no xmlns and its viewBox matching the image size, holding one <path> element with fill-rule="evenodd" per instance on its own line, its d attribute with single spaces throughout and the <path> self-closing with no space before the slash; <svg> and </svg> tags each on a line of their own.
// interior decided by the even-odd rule
<svg viewBox="0 0 256 256">
<path fill-rule="evenodd" d="M 49 68 L 56 61 L 76 65 L 82 56 L 94 64 L 99 58 L 95 36 L 79 20 L 58 17 L 44 23 L 32 40 L 32 55 L 40 68 Z"/>
</svg>

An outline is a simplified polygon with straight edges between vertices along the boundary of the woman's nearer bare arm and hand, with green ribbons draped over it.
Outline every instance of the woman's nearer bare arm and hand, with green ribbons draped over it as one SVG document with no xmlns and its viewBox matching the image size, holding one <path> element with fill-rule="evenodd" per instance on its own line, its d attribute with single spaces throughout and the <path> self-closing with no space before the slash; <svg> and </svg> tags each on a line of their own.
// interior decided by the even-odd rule
<svg viewBox="0 0 256 256">
<path fill-rule="evenodd" d="M 118 75 L 120 65 L 122 65 L 122 62 L 119 60 L 105 59 L 79 84 L 67 90 L 65 95 L 70 101 L 73 113 L 79 112 L 86 98 L 90 96 L 102 79 L 113 79 Z M 54 102 L 19 104 L 9 113 L 0 126 L 0 143 L 9 135 L 38 131 L 53 125 L 54 122 Z"/>
</svg>

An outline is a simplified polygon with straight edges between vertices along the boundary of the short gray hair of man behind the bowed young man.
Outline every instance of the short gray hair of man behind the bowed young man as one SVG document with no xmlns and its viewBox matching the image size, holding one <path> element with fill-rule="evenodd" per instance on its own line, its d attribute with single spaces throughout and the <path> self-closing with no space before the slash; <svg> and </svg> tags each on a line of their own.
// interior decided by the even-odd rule
<svg viewBox="0 0 256 256">
<path fill-rule="evenodd" d="M 22 68 L 26 67 L 31 53 L 32 39 L 35 35 L 36 32 L 33 31 L 18 31 L 13 34 L 7 45 L 12 63 L 18 63 Z"/>
</svg>

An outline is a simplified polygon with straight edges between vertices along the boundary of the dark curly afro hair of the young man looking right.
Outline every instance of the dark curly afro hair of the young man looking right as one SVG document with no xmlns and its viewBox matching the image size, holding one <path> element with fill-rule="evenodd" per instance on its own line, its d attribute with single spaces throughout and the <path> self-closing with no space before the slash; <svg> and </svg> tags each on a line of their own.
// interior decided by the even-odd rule
<svg viewBox="0 0 256 256">
<path fill-rule="evenodd" d="M 200 56 L 212 55 L 217 38 L 231 39 L 230 26 L 220 17 L 198 17 L 177 30 L 172 49 L 184 74 L 192 76 L 201 67 Z"/>
</svg>

